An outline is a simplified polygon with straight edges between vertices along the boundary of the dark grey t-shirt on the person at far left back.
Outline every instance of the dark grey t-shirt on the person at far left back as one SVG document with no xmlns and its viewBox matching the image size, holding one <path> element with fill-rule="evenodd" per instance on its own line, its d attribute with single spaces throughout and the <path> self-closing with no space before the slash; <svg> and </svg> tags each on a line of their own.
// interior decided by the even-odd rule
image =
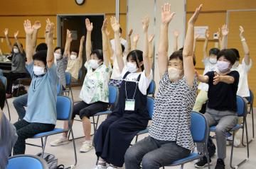
<svg viewBox="0 0 256 169">
<path fill-rule="evenodd" d="M 26 54 L 25 53 L 11 53 L 13 58 L 11 60 L 11 71 L 26 73 Z"/>
</svg>

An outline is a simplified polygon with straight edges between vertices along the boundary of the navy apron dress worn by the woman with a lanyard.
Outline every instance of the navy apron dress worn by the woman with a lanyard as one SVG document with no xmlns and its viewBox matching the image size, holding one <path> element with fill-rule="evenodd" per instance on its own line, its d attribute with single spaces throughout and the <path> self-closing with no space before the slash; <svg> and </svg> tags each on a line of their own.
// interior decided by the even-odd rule
<svg viewBox="0 0 256 169">
<path fill-rule="evenodd" d="M 119 89 L 117 108 L 110 117 L 100 124 L 94 138 L 96 155 L 117 167 L 122 167 L 124 153 L 129 148 L 132 139 L 139 131 L 146 129 L 150 119 L 149 112 L 146 110 L 146 95 L 139 91 L 141 75 L 138 76 L 136 82 L 125 81 L 128 74 L 130 73 L 127 72 L 124 75 Z M 135 100 L 134 111 L 124 110 L 126 98 L 132 99 L 133 97 Z"/>
</svg>

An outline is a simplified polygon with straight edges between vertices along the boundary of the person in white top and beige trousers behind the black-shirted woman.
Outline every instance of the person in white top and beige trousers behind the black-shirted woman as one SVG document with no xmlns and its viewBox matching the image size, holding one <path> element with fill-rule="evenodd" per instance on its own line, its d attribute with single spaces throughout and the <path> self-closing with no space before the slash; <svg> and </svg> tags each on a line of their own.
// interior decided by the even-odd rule
<svg viewBox="0 0 256 169">
<path fill-rule="evenodd" d="M 209 37 L 210 37 L 209 30 L 206 29 L 206 40 L 203 45 L 203 64 L 205 66 L 203 74 L 206 74 L 208 71 L 215 71 L 216 63 L 217 63 L 217 55 L 220 52 L 220 49 L 213 47 L 209 50 L 209 53 L 207 53 Z M 208 100 L 208 96 L 207 96 L 208 84 L 199 83 L 198 89 L 200 91 L 196 97 L 196 103 L 193 106 L 193 111 L 195 112 L 200 112 L 203 104 L 206 103 L 206 101 Z"/>
</svg>

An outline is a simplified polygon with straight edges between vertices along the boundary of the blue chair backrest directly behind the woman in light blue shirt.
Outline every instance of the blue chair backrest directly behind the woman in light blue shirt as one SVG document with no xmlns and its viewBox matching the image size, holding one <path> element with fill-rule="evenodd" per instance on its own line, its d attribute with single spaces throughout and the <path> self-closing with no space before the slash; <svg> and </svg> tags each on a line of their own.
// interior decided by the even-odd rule
<svg viewBox="0 0 256 169">
<path fill-rule="evenodd" d="M 57 96 L 57 120 L 70 120 L 73 113 L 73 102 L 63 95 Z"/>
</svg>

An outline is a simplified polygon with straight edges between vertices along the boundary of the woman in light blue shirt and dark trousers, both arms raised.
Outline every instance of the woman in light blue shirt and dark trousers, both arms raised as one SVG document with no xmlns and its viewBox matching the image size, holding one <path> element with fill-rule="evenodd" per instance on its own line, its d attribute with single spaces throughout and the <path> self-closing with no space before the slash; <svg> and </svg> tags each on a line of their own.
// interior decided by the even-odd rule
<svg viewBox="0 0 256 169">
<path fill-rule="evenodd" d="M 23 120 L 14 124 L 18 140 L 14 145 L 14 155 L 25 153 L 26 139 L 41 132 L 49 132 L 55 128 L 57 113 L 58 76 L 54 64 L 53 32 L 54 23 L 46 25 L 48 49 L 33 54 L 33 29 L 31 22 L 24 21 L 26 33 L 26 69 L 31 75 L 31 86 L 28 90 L 28 108 Z M 42 100 L 42 97 L 44 98 Z"/>
</svg>

